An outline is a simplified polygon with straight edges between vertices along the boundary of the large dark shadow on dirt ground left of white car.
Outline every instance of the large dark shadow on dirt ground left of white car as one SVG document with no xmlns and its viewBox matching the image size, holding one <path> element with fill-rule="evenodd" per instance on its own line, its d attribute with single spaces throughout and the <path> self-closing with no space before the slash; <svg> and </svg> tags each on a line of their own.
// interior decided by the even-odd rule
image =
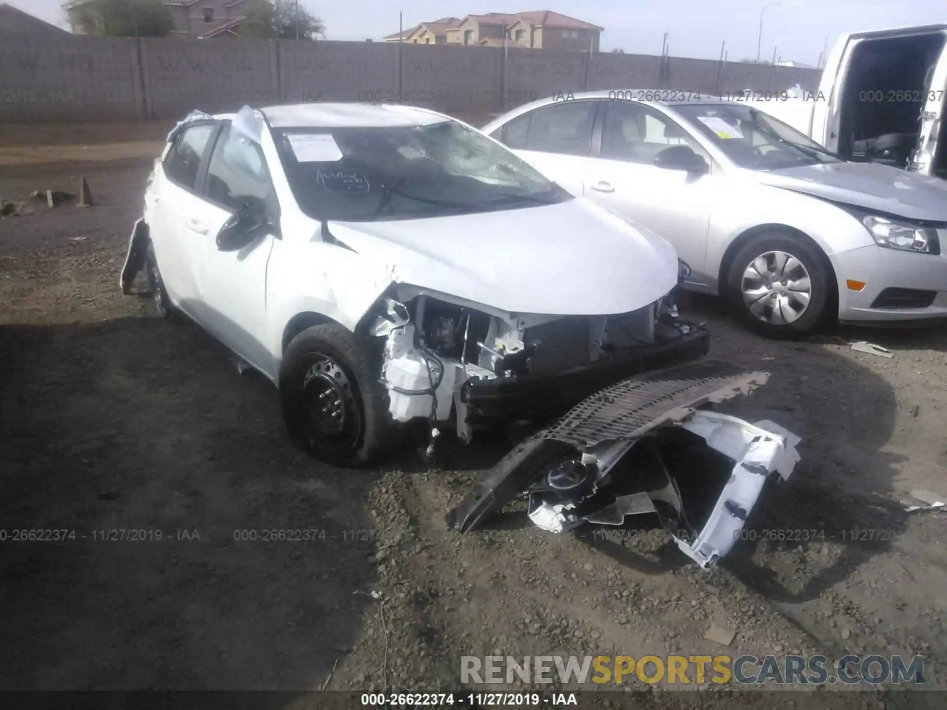
<svg viewBox="0 0 947 710">
<path fill-rule="evenodd" d="M 0 420 L 0 688 L 312 689 L 356 642 L 375 474 L 198 328 L 2 326 Z"/>
</svg>

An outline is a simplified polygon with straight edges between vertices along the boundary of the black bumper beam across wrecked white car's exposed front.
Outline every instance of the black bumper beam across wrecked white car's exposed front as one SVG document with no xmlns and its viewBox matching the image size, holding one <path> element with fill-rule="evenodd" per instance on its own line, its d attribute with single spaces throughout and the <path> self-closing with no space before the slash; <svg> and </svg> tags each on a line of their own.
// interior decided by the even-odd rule
<svg viewBox="0 0 947 710">
<path fill-rule="evenodd" d="M 688 333 L 663 343 L 627 348 L 607 359 L 564 372 L 494 380 L 472 378 L 461 386 L 460 401 L 467 405 L 471 423 L 561 414 L 615 382 L 706 355 L 710 333 L 696 326 L 689 328 Z"/>
</svg>

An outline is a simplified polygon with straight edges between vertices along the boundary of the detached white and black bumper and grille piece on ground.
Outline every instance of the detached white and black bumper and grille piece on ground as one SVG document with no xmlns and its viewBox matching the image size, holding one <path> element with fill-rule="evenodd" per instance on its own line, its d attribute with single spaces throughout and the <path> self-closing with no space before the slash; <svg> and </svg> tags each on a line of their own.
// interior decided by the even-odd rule
<svg viewBox="0 0 947 710">
<path fill-rule="evenodd" d="M 517 446 L 449 523 L 472 530 L 521 496 L 532 522 L 557 533 L 652 514 L 706 568 L 740 539 L 766 481 L 799 460 L 799 437 L 776 423 L 703 408 L 768 377 L 706 360 L 617 382 Z"/>
</svg>

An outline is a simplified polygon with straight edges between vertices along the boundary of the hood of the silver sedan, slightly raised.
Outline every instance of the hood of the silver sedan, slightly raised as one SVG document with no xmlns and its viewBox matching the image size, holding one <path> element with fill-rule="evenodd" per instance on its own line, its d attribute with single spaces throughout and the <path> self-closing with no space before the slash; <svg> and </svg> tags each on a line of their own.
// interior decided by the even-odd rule
<svg viewBox="0 0 947 710">
<path fill-rule="evenodd" d="M 837 163 L 754 173 L 764 185 L 912 220 L 947 222 L 947 181 L 877 163 Z"/>
</svg>

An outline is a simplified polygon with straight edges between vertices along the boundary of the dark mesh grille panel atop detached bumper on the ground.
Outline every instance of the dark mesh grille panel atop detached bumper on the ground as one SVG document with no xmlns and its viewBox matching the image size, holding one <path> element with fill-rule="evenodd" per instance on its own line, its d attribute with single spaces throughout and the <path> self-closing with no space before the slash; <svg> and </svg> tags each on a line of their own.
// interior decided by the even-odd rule
<svg viewBox="0 0 947 710">
<path fill-rule="evenodd" d="M 602 441 L 636 438 L 706 402 L 749 394 L 768 372 L 704 360 L 654 370 L 617 382 L 583 400 L 544 435 L 581 448 Z"/>
</svg>

